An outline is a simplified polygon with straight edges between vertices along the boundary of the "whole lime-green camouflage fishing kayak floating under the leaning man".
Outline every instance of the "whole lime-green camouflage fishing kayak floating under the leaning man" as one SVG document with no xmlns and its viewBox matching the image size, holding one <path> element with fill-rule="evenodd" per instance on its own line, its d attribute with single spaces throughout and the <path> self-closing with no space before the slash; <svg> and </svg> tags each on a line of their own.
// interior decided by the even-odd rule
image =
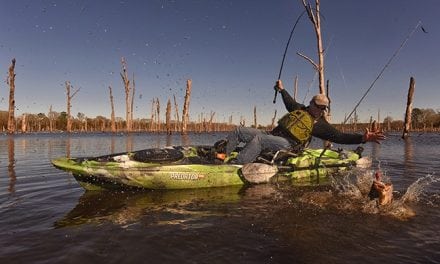
<svg viewBox="0 0 440 264">
<path fill-rule="evenodd" d="M 87 190 L 114 188 L 191 189 L 290 180 L 321 183 L 331 173 L 369 166 L 361 151 L 305 149 L 277 152 L 246 165 L 216 160 L 212 147 L 167 147 L 91 158 L 58 158 L 52 164 L 72 173 Z M 274 177 L 274 176 L 277 177 Z"/>
</svg>

